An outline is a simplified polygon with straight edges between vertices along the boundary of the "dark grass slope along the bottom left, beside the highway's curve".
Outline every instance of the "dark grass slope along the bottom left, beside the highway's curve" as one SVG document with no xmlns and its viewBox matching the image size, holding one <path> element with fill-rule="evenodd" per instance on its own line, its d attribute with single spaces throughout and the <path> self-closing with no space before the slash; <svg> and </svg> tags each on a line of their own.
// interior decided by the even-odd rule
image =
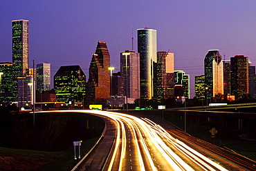
<svg viewBox="0 0 256 171">
<path fill-rule="evenodd" d="M 82 157 L 98 141 L 99 137 L 82 142 Z M 78 147 L 77 157 L 78 157 Z M 81 158 L 82 158 L 81 157 Z M 71 170 L 78 160 L 74 159 L 74 148 L 61 152 L 16 150 L 0 148 L 0 170 Z"/>
</svg>

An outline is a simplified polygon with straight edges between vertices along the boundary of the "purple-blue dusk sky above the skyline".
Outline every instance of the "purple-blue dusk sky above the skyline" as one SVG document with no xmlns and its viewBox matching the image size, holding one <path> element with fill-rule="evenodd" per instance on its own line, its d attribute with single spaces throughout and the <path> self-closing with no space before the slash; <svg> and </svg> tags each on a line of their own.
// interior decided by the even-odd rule
<svg viewBox="0 0 256 171">
<path fill-rule="evenodd" d="M 254 0 L 80 0 L 0 1 L 0 61 L 12 61 L 12 20 L 30 21 L 30 68 L 48 62 L 52 76 L 60 66 L 82 67 L 88 79 L 91 54 L 106 41 L 111 66 L 120 70 L 120 52 L 131 50 L 131 27 L 157 30 L 158 51 L 174 52 L 175 70 L 203 73 L 208 50 L 230 59 L 244 54 L 256 64 L 256 1 Z M 53 87 L 53 83 L 52 83 Z"/>
</svg>

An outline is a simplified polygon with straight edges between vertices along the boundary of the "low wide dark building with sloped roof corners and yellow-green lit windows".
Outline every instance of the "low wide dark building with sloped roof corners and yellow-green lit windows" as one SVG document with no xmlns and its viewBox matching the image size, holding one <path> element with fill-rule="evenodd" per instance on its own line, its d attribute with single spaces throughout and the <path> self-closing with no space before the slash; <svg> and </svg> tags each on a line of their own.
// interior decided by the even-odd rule
<svg viewBox="0 0 256 171">
<path fill-rule="evenodd" d="M 57 102 L 84 102 L 86 77 L 80 66 L 61 66 L 54 75 Z"/>
</svg>

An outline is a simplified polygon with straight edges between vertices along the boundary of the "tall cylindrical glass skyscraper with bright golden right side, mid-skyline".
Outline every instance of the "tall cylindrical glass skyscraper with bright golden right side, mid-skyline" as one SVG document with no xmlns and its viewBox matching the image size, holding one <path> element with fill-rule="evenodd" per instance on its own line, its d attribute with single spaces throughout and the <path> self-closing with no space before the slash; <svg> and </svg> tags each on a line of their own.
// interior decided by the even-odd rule
<svg viewBox="0 0 256 171">
<path fill-rule="evenodd" d="M 156 30 L 138 29 L 138 53 L 140 53 L 140 97 L 153 97 L 153 62 L 156 62 Z"/>
</svg>

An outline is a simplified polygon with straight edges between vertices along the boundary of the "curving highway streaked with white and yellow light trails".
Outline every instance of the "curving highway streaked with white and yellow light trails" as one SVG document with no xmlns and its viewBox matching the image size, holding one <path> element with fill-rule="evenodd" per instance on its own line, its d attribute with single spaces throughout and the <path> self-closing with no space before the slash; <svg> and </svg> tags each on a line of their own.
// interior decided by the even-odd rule
<svg viewBox="0 0 256 171">
<path fill-rule="evenodd" d="M 100 110 L 55 112 L 85 112 L 111 119 L 116 125 L 113 145 L 107 150 L 109 156 L 102 158 L 104 165 L 101 169 L 97 166 L 98 170 L 243 170 L 237 165 L 223 168 L 177 139 L 175 132 L 146 118 Z"/>
</svg>

